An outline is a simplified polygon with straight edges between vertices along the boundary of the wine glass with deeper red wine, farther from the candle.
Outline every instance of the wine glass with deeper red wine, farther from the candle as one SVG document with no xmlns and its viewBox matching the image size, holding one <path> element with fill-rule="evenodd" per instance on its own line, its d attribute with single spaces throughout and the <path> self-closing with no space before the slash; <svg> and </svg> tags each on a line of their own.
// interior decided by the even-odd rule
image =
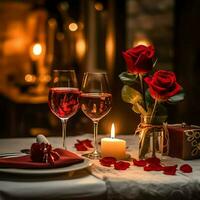
<svg viewBox="0 0 200 200">
<path fill-rule="evenodd" d="M 80 91 L 74 70 L 54 70 L 49 88 L 48 104 L 62 122 L 62 145 L 66 146 L 67 121 L 79 108 Z"/>
</svg>

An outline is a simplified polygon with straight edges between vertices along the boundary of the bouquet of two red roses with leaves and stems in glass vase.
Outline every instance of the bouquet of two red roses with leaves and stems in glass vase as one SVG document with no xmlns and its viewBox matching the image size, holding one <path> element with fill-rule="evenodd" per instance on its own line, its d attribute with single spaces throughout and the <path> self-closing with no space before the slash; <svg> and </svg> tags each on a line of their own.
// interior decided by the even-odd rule
<svg viewBox="0 0 200 200">
<path fill-rule="evenodd" d="M 140 137 L 140 158 L 149 151 L 150 132 L 156 132 L 155 126 L 166 120 L 165 103 L 175 103 L 184 99 L 183 88 L 177 83 L 176 75 L 169 70 L 158 70 L 155 65 L 157 58 L 153 46 L 138 45 L 123 52 L 127 64 L 127 72 L 119 77 L 124 83 L 122 88 L 123 101 L 132 105 L 132 110 L 148 119 L 148 125 L 142 123 L 137 130 L 145 127 Z M 153 137 L 155 135 L 153 134 Z M 153 138 L 153 142 L 155 138 Z M 156 144 L 153 144 L 155 147 Z M 153 149 L 155 156 L 155 148 Z"/>
</svg>

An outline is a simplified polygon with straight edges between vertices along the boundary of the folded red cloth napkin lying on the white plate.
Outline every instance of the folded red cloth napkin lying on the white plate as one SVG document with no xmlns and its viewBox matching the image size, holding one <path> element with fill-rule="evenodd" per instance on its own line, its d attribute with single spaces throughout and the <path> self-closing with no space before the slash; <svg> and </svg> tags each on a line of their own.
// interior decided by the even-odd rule
<svg viewBox="0 0 200 200">
<path fill-rule="evenodd" d="M 80 156 L 64 150 L 64 149 L 54 149 L 59 155 L 59 160 L 54 162 L 54 165 L 50 163 L 33 162 L 30 155 L 13 157 L 13 158 L 1 158 L 0 167 L 4 168 L 21 168 L 21 169 L 42 169 L 42 168 L 58 168 L 65 167 L 76 163 L 81 163 L 84 161 Z"/>
</svg>

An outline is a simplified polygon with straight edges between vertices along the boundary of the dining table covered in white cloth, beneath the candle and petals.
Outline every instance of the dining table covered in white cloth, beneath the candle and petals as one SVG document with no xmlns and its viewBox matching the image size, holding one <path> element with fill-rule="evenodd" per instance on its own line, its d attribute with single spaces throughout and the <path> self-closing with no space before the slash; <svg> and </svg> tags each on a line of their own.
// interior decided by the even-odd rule
<svg viewBox="0 0 200 200">
<path fill-rule="evenodd" d="M 103 135 L 100 138 L 105 137 Z M 166 165 L 177 164 L 175 175 L 165 175 L 162 171 L 144 171 L 133 165 L 138 159 L 137 135 L 118 135 L 126 141 L 126 162 L 130 167 L 116 170 L 113 166 L 102 166 L 99 160 L 86 159 L 64 169 L 6 169 L 0 168 L 0 200 L 10 199 L 122 199 L 122 200 L 170 200 L 200 199 L 200 160 L 182 160 L 169 156 L 160 159 Z M 90 139 L 92 134 L 67 138 L 68 150 L 84 157 L 85 151 L 77 151 L 77 140 Z M 47 137 L 53 148 L 61 146 L 61 137 Z M 36 142 L 34 137 L 0 139 L 0 155 L 20 152 Z M 183 173 L 179 167 L 192 166 L 191 173 Z M 43 173 L 44 172 L 44 173 Z"/>
</svg>

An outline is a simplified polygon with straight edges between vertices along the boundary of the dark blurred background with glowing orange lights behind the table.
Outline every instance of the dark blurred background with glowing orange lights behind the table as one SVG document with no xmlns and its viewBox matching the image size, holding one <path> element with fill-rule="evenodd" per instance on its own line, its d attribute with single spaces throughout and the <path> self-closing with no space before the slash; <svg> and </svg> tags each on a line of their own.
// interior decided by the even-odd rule
<svg viewBox="0 0 200 200">
<path fill-rule="evenodd" d="M 156 48 L 158 68 L 172 69 L 186 97 L 168 106 L 168 122 L 200 125 L 200 1 L 198 0 L 1 0 L 0 137 L 61 136 L 49 110 L 53 69 L 107 71 L 113 107 L 100 134 L 114 122 L 118 134 L 133 134 L 140 116 L 121 100 L 122 51 L 138 44 Z M 92 132 L 79 111 L 71 135 Z"/>
</svg>

